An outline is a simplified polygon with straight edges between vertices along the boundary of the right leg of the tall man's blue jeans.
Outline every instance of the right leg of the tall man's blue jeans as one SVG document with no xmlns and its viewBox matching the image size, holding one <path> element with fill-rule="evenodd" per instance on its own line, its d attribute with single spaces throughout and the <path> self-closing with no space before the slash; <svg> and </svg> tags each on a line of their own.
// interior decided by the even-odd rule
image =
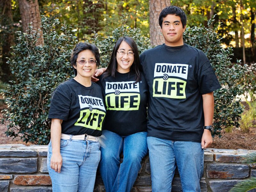
<svg viewBox="0 0 256 192">
<path fill-rule="evenodd" d="M 200 191 L 200 179 L 204 169 L 204 149 L 201 143 L 174 141 L 176 163 L 183 192 Z"/>
</svg>

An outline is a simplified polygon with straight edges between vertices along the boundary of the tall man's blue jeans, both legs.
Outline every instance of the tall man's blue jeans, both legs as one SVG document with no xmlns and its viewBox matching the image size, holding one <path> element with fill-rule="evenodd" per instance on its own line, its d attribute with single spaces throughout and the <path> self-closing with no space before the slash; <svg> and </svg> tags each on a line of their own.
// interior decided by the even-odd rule
<svg viewBox="0 0 256 192">
<path fill-rule="evenodd" d="M 183 192 L 200 191 L 204 171 L 201 143 L 148 137 L 152 192 L 170 192 L 176 164 Z M 176 163 L 176 164 L 175 164 Z"/>
</svg>

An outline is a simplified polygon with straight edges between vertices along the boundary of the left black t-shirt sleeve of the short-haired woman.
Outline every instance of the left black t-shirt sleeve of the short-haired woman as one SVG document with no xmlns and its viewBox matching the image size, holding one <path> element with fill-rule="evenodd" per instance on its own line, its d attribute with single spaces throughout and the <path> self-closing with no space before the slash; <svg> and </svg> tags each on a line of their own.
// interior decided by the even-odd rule
<svg viewBox="0 0 256 192">
<path fill-rule="evenodd" d="M 60 86 L 57 87 L 52 93 L 52 100 L 48 118 L 68 120 L 70 106 L 71 97 L 67 90 L 63 90 Z"/>
</svg>

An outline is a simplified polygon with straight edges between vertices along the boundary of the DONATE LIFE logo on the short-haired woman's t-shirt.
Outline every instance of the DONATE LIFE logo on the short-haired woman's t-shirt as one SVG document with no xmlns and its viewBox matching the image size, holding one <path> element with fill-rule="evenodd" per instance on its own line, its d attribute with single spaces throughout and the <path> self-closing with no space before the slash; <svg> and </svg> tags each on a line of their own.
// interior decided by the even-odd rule
<svg viewBox="0 0 256 192">
<path fill-rule="evenodd" d="M 80 117 L 75 123 L 89 129 L 100 130 L 106 115 L 103 100 L 98 97 L 78 95 L 80 104 Z"/>
</svg>

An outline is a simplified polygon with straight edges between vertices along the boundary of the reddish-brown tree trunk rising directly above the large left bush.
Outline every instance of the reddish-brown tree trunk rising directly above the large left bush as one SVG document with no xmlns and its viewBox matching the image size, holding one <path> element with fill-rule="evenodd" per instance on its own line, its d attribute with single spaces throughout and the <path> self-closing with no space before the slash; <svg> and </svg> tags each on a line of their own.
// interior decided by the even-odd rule
<svg viewBox="0 0 256 192">
<path fill-rule="evenodd" d="M 33 22 L 33 27 L 36 29 L 41 28 L 41 17 L 39 12 L 38 0 L 19 0 L 20 15 L 22 21 L 23 32 L 26 32 L 28 23 Z M 39 31 L 40 38 L 37 40 L 36 45 L 43 45 L 44 38 L 43 32 Z"/>
</svg>

